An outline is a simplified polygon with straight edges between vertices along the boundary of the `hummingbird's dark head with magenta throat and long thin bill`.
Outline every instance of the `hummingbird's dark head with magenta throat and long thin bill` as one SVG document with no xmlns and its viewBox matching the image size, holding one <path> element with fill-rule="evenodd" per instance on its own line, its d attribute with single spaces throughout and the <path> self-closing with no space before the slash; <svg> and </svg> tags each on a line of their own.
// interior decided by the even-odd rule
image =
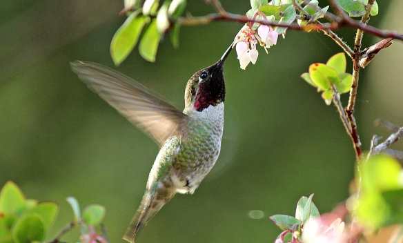
<svg viewBox="0 0 403 243">
<path fill-rule="evenodd" d="M 185 107 L 202 111 L 208 106 L 217 106 L 225 99 L 224 62 L 233 44 L 219 61 L 212 66 L 197 71 L 190 77 L 185 90 Z"/>
</svg>

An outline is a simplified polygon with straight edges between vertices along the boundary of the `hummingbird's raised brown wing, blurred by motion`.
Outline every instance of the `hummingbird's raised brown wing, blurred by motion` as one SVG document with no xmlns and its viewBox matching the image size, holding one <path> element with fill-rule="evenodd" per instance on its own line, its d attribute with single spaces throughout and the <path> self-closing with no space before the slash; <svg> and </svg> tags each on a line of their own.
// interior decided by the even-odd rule
<svg viewBox="0 0 403 243">
<path fill-rule="evenodd" d="M 115 70 L 83 61 L 70 65 L 91 90 L 143 129 L 159 146 L 186 117 L 157 93 Z"/>
</svg>

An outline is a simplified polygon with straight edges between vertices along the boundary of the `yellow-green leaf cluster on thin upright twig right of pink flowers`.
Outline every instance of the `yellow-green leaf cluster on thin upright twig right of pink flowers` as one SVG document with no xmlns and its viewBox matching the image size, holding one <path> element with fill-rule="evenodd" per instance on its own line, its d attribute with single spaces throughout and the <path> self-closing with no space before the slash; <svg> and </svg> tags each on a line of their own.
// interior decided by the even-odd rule
<svg viewBox="0 0 403 243">
<path fill-rule="evenodd" d="M 301 75 L 308 84 L 322 92 L 322 98 L 327 105 L 330 105 L 334 91 L 343 94 L 347 93 L 353 83 L 353 76 L 346 72 L 346 56 L 344 52 L 337 53 L 326 64 L 311 64 L 309 72 Z"/>
</svg>

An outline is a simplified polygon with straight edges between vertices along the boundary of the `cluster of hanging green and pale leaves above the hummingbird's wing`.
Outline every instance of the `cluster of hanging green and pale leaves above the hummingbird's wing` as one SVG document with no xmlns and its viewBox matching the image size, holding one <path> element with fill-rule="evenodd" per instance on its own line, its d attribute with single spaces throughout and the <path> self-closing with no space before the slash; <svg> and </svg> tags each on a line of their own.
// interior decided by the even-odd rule
<svg viewBox="0 0 403 243">
<path fill-rule="evenodd" d="M 139 53 L 147 61 L 155 61 L 159 41 L 170 31 L 174 47 L 179 45 L 179 24 L 170 19 L 179 17 L 186 7 L 186 0 L 132 0 L 125 1 L 128 18 L 117 30 L 110 43 L 110 55 L 115 65 L 128 57 L 139 41 Z M 141 33 L 143 32 L 143 35 Z M 140 38 L 141 37 L 141 38 Z"/>
</svg>

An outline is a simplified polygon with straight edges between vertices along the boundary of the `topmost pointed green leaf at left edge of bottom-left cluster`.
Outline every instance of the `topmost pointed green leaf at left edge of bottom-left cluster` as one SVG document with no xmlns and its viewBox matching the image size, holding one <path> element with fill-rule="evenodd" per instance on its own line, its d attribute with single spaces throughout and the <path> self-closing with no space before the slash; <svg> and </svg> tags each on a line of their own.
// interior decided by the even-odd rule
<svg viewBox="0 0 403 243">
<path fill-rule="evenodd" d="M 8 181 L 0 191 L 0 213 L 21 215 L 26 210 L 26 199 L 14 182 Z"/>
</svg>

